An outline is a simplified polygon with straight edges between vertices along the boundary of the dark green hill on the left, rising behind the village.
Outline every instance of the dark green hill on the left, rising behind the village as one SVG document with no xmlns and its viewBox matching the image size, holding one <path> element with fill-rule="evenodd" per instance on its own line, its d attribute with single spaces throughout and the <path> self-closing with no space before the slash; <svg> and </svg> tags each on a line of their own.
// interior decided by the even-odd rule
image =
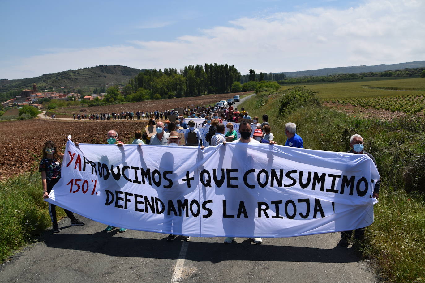
<svg viewBox="0 0 425 283">
<path fill-rule="evenodd" d="M 105 87 L 113 84 L 127 84 L 142 70 L 125 66 L 100 65 L 77 70 L 68 70 L 59 73 L 43 74 L 35 78 L 22 78 L 16 80 L 0 80 L 0 92 L 22 90 L 32 87 L 36 83 L 39 90 L 54 87 L 60 89 L 81 89 L 85 92 L 92 91 L 95 87 Z"/>
</svg>

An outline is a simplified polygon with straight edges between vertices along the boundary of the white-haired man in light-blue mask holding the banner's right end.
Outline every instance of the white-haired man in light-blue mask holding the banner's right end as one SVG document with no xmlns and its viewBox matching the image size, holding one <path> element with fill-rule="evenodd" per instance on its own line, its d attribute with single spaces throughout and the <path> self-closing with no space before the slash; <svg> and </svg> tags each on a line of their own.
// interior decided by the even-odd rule
<svg viewBox="0 0 425 283">
<path fill-rule="evenodd" d="M 371 158 L 371 160 L 376 166 L 376 161 L 375 161 L 375 158 L 372 156 L 372 154 L 363 150 L 364 142 L 363 142 L 363 137 L 360 134 L 353 134 L 351 136 L 350 147 L 351 149 L 347 151 L 348 153 L 367 154 L 368 157 Z M 378 180 L 375 184 L 372 198 L 377 199 L 379 197 L 379 189 L 380 189 L 380 180 Z M 338 245 L 340 245 L 341 247 L 347 247 L 351 238 L 351 233 L 352 231 L 341 232 L 341 241 L 338 243 Z M 354 230 L 354 239 L 357 242 L 362 241 L 364 238 L 364 235 L 365 235 L 365 227 Z"/>
</svg>

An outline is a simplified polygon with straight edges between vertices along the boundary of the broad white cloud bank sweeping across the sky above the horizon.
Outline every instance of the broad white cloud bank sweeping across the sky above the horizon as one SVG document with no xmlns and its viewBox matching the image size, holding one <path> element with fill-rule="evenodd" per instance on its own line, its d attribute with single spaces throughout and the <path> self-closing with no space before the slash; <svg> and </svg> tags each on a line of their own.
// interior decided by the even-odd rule
<svg viewBox="0 0 425 283">
<path fill-rule="evenodd" d="M 232 20 L 170 41 L 133 40 L 128 46 L 62 50 L 3 67 L 0 78 L 28 77 L 100 64 L 179 69 L 227 63 L 241 73 L 393 64 L 425 59 L 425 4 L 371 0 L 338 10 L 314 8 Z M 0 64 L 4 65 L 4 64 Z"/>
</svg>

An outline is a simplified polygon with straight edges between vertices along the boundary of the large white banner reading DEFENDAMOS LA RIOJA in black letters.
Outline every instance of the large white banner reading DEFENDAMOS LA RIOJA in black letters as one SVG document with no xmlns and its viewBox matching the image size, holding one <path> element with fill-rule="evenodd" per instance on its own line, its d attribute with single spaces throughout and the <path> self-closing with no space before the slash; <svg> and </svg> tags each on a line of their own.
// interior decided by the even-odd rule
<svg viewBox="0 0 425 283">
<path fill-rule="evenodd" d="M 116 227 L 196 237 L 292 237 L 373 222 L 379 174 L 366 154 L 227 143 L 69 140 L 48 202 Z"/>
</svg>

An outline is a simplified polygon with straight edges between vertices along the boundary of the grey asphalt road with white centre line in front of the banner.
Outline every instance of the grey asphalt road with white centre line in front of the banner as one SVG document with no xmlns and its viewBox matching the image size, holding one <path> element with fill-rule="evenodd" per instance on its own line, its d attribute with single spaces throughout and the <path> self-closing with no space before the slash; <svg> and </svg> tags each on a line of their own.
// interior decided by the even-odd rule
<svg viewBox="0 0 425 283">
<path fill-rule="evenodd" d="M 368 261 L 339 233 L 263 238 L 254 244 L 237 238 L 181 237 L 118 229 L 79 217 L 85 226 L 59 223 L 39 241 L 0 266 L 0 282 L 375 282 Z"/>
</svg>

